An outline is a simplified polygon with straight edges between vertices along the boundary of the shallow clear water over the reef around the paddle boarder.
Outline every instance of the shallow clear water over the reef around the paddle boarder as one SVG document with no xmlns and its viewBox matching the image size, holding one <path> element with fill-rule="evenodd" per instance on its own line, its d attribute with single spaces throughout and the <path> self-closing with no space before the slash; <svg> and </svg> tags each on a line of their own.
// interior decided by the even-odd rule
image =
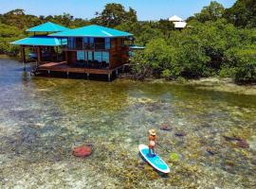
<svg viewBox="0 0 256 189">
<path fill-rule="evenodd" d="M 18 61 L 0 59 L 0 188 L 255 188 L 255 114 L 253 95 L 30 77 Z M 168 176 L 138 156 L 148 129 Z M 83 144 L 92 155 L 73 157 Z"/>
</svg>

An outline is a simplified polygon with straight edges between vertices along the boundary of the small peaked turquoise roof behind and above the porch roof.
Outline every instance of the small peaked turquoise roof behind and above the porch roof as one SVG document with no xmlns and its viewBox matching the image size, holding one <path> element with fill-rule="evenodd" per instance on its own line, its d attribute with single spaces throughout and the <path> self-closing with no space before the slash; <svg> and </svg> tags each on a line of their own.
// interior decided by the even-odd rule
<svg viewBox="0 0 256 189">
<path fill-rule="evenodd" d="M 60 32 L 60 31 L 68 30 L 68 29 L 69 28 L 67 28 L 67 27 L 56 25 L 51 22 L 47 22 L 43 25 L 31 27 L 31 28 L 27 29 L 26 31 L 28 31 L 28 32 Z"/>
</svg>

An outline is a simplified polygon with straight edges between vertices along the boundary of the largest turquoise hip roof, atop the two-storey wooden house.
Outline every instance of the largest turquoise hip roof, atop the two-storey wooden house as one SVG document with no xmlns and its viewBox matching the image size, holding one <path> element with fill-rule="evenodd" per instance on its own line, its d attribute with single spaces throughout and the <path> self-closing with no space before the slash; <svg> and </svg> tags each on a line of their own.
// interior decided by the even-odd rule
<svg viewBox="0 0 256 189">
<path fill-rule="evenodd" d="M 63 32 L 53 33 L 50 36 L 56 37 L 98 37 L 98 38 L 117 38 L 117 37 L 129 37 L 133 34 L 112 29 L 104 26 L 83 26 L 76 29 L 69 29 Z"/>
</svg>

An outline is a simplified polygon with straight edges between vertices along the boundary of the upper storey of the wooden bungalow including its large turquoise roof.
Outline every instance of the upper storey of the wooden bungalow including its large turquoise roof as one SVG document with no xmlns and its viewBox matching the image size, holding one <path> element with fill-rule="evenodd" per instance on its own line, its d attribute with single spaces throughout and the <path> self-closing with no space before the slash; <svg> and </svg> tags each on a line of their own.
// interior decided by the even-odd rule
<svg viewBox="0 0 256 189">
<path fill-rule="evenodd" d="M 134 40 L 131 33 L 95 25 L 69 29 L 51 36 L 67 39 L 65 50 L 109 51 L 129 47 Z"/>
</svg>

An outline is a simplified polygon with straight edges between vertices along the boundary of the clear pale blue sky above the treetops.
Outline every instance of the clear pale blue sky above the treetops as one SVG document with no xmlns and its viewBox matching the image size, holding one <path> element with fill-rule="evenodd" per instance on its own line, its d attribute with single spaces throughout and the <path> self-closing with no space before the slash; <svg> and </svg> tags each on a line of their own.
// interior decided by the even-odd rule
<svg viewBox="0 0 256 189">
<path fill-rule="evenodd" d="M 217 0 L 225 8 L 231 7 L 235 0 Z M 107 3 L 119 3 L 126 9 L 137 10 L 138 20 L 166 19 L 173 15 L 186 19 L 199 12 L 210 0 L 0 0 L 0 13 L 11 9 L 25 9 L 27 14 L 56 15 L 64 12 L 76 18 L 91 19 L 95 12 Z"/>
</svg>

